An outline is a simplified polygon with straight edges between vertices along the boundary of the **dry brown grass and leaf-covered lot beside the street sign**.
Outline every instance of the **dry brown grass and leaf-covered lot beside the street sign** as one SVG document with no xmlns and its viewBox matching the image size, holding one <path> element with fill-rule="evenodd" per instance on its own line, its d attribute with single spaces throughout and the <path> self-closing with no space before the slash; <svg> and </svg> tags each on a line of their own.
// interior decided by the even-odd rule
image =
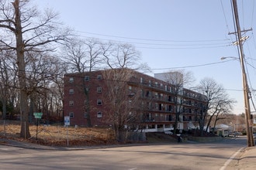
<svg viewBox="0 0 256 170">
<path fill-rule="evenodd" d="M 20 125 L 18 122 L 0 122 L 0 137 L 24 141 L 19 138 Z M 40 145 L 65 146 L 67 138 L 69 145 L 110 145 L 116 143 L 114 132 L 107 128 L 74 128 L 61 125 L 29 125 L 31 138 L 26 141 L 39 143 Z M 36 140 L 37 139 L 37 140 Z"/>
</svg>

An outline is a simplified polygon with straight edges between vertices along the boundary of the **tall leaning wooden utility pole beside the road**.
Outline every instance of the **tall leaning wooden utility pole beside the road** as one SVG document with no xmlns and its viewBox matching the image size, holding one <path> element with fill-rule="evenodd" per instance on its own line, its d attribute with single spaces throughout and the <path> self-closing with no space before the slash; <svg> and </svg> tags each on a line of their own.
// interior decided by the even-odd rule
<svg viewBox="0 0 256 170">
<path fill-rule="evenodd" d="M 251 117 L 251 108 L 249 101 L 249 87 L 247 83 L 247 75 L 244 69 L 244 49 L 243 49 L 243 40 L 241 37 L 240 23 L 238 17 L 238 9 L 237 9 L 237 0 L 233 0 L 233 8 L 234 8 L 234 18 L 236 21 L 236 29 L 237 29 L 237 41 L 239 46 L 239 54 L 240 54 L 240 66 L 242 70 L 243 77 L 243 90 L 244 90 L 244 109 L 245 109 L 245 123 L 247 128 L 247 147 L 254 146 L 254 138 L 252 135 L 252 117 Z"/>
</svg>

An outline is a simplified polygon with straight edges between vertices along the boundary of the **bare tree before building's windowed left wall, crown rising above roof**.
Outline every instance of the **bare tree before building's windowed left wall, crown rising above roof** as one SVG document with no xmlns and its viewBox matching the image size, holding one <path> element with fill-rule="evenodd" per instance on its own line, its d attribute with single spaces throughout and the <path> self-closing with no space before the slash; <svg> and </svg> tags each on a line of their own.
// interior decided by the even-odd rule
<svg viewBox="0 0 256 170">
<path fill-rule="evenodd" d="M 64 60 L 71 72 L 85 73 L 99 69 L 102 63 L 102 42 L 97 39 L 71 39 L 64 46 Z M 81 91 L 84 91 L 86 100 L 89 100 L 87 90 L 91 88 L 91 83 L 85 82 Z M 88 127 L 91 127 L 90 104 L 85 107 L 87 113 Z"/>
</svg>

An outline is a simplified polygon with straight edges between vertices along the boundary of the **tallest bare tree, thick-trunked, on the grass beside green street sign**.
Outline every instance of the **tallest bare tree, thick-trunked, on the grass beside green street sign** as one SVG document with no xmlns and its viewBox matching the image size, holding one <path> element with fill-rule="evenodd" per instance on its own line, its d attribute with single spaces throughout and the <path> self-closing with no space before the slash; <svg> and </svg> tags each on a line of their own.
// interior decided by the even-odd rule
<svg viewBox="0 0 256 170">
<path fill-rule="evenodd" d="M 54 50 L 54 43 L 63 40 L 57 14 L 47 10 L 40 14 L 30 1 L 0 0 L 0 48 L 16 50 L 19 69 L 19 97 L 21 114 L 21 138 L 29 138 L 28 91 L 25 56 L 31 51 Z"/>
</svg>

